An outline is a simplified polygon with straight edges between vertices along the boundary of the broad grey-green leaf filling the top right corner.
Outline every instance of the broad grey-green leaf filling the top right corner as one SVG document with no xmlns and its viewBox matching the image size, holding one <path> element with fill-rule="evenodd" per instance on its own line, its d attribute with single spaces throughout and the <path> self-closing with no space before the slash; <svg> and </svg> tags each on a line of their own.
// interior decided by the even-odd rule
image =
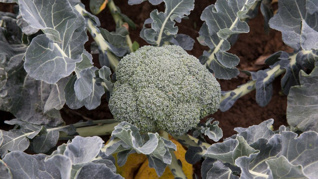
<svg viewBox="0 0 318 179">
<path fill-rule="evenodd" d="M 312 6 L 312 0 L 278 2 L 278 12 L 269 20 L 271 28 L 282 32 L 282 39 L 285 44 L 298 50 L 317 49 L 316 21 L 318 15 Z"/>
</svg>

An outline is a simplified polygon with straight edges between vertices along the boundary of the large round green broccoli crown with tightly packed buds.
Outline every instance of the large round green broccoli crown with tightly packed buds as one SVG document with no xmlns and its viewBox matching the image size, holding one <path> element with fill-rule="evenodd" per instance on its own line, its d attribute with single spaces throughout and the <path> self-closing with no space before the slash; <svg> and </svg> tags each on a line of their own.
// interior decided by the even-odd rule
<svg viewBox="0 0 318 179">
<path fill-rule="evenodd" d="M 143 46 L 121 59 L 109 108 L 117 121 L 142 132 L 179 136 L 219 108 L 215 77 L 181 47 Z"/>
</svg>

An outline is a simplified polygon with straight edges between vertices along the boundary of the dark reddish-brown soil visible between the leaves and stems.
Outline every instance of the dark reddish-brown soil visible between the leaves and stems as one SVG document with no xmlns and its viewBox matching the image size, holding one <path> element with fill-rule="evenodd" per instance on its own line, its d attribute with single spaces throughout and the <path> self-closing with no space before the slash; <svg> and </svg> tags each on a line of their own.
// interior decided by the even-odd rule
<svg viewBox="0 0 318 179">
<path fill-rule="evenodd" d="M 86 9 L 88 10 L 89 1 L 82 1 Z M 158 9 L 164 11 L 163 4 L 153 6 L 148 2 L 144 2 L 139 5 L 130 6 L 128 0 L 116 0 L 115 3 L 121 9 L 123 14 L 130 17 L 136 24 L 136 29 L 129 29 L 130 37 L 132 41 L 137 41 L 140 46 L 148 45 L 142 38 L 139 37 L 139 33 L 142 29 L 143 22 L 149 17 L 152 10 Z M 198 37 L 198 31 L 203 24 L 200 20 L 200 15 L 204 8 L 210 4 L 214 4 L 215 1 L 200 0 L 195 1 L 195 9 L 190 13 L 188 20 L 182 20 L 182 22 L 176 25 L 179 28 L 178 33 L 184 33 L 190 35 L 196 39 Z M 12 5 L 0 3 L 0 10 L 13 11 Z M 115 24 L 108 9 L 103 10 L 97 15 L 101 21 L 101 27 L 109 31 L 115 30 Z M 268 68 L 264 65 L 266 57 L 279 50 L 291 52 L 292 50 L 283 44 L 281 40 L 281 33 L 279 31 L 270 30 L 268 34 L 264 31 L 264 19 L 261 13 L 248 22 L 250 26 L 250 32 L 241 34 L 238 41 L 231 47 L 229 52 L 237 55 L 240 58 L 238 68 L 241 70 L 257 71 L 259 69 Z M 90 51 L 90 43 L 93 41 L 89 37 L 89 41 L 86 43 L 85 48 Z M 194 44 L 193 50 L 189 51 L 190 54 L 199 57 L 204 50 L 208 50 L 208 47 L 200 45 L 197 40 Z M 96 66 L 99 66 L 98 55 L 93 55 L 93 62 Z M 237 86 L 246 83 L 250 79 L 245 74 L 240 74 L 237 78 L 231 80 L 218 80 L 221 84 L 222 90 L 232 90 Z M 249 93 L 236 101 L 233 107 L 222 113 L 217 113 L 209 116 L 215 118 L 220 122 L 219 126 L 223 130 L 224 138 L 235 134 L 234 127 L 248 127 L 267 119 L 274 119 L 274 129 L 278 129 L 280 125 L 287 125 L 286 122 L 286 108 L 287 108 L 287 96 L 280 93 L 280 78 L 277 78 L 273 84 L 273 97 L 271 102 L 266 107 L 260 107 L 255 101 L 255 91 Z M 75 111 L 75 112 L 74 112 Z M 99 107 L 94 110 L 87 110 L 82 107 L 78 110 L 70 110 L 65 106 L 61 110 L 61 115 L 66 121 L 66 124 L 75 123 L 79 120 L 86 120 L 87 118 L 93 120 L 110 119 L 112 114 L 107 106 L 106 97 L 102 97 L 102 102 Z M 0 125 L 1 129 L 8 129 L 10 126 L 3 124 L 4 120 L 13 119 L 14 116 L 10 113 L 0 111 Z M 197 166 L 197 165 L 196 165 Z M 198 165 L 200 166 L 200 165 Z M 199 174 L 199 168 L 196 173 Z"/>
</svg>

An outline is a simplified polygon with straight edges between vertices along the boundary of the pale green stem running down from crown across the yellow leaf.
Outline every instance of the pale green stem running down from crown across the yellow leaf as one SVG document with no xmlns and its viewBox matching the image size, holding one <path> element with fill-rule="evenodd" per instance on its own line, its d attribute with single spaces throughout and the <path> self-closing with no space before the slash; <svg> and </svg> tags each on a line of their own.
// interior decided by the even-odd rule
<svg viewBox="0 0 318 179">
<path fill-rule="evenodd" d="M 160 130 L 159 135 L 167 140 L 169 140 L 169 134 L 166 131 Z M 169 151 L 171 154 L 171 163 L 168 164 L 169 169 L 171 170 L 173 176 L 178 179 L 187 179 L 183 170 L 182 163 L 176 158 L 174 151 Z"/>
</svg>

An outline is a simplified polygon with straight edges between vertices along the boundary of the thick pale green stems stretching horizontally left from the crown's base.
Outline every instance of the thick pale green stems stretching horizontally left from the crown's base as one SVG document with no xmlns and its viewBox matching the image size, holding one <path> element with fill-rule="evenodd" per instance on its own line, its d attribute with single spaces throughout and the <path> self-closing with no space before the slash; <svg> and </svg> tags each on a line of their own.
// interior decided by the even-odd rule
<svg viewBox="0 0 318 179">
<path fill-rule="evenodd" d="M 74 127 L 76 127 L 76 132 L 79 134 L 79 136 L 82 137 L 89 137 L 89 136 L 101 136 L 101 135 L 110 135 L 114 127 L 117 126 L 119 122 L 116 122 L 114 119 L 106 119 L 106 120 L 94 120 L 92 123 L 88 122 L 80 122 L 73 124 Z M 89 125 L 89 126 L 88 126 Z M 55 127 L 51 129 L 47 129 L 47 131 L 52 130 L 58 130 L 62 127 L 68 127 L 67 126 L 61 126 L 61 127 Z M 67 140 L 67 139 L 73 139 L 73 135 L 68 135 L 63 131 L 59 132 L 59 140 Z"/>
</svg>

